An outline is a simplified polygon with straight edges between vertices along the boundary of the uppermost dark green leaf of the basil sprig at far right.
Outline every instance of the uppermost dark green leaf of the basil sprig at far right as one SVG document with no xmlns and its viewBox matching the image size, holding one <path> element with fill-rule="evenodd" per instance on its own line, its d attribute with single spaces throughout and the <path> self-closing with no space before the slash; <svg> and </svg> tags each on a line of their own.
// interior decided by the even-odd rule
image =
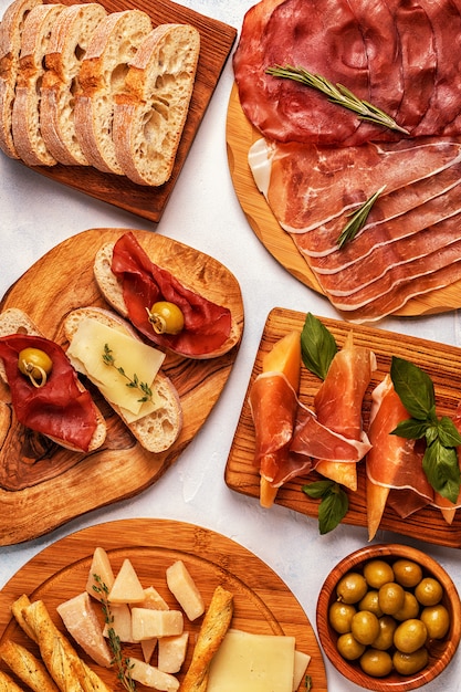
<svg viewBox="0 0 461 692">
<path fill-rule="evenodd" d="M 392 356 L 390 377 L 410 416 L 418 420 L 433 419 L 436 395 L 429 375 L 412 363 Z"/>
</svg>

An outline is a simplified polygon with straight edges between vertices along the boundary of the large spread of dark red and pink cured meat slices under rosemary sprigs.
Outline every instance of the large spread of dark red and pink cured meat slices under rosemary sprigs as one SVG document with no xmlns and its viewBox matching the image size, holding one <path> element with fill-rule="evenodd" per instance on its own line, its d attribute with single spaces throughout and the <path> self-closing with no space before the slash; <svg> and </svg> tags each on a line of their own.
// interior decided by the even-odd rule
<svg viewBox="0 0 461 692">
<path fill-rule="evenodd" d="M 266 73 L 286 64 L 345 85 L 408 136 Z M 249 155 L 256 185 L 345 318 L 380 319 L 461 279 L 460 2 L 262 0 L 245 15 L 234 73 L 263 135 Z"/>
</svg>

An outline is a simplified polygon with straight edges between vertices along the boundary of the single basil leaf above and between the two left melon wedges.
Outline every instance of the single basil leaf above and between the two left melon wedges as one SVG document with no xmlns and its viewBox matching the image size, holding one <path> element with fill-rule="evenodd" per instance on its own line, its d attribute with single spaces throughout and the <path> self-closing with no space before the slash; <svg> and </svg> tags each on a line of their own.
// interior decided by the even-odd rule
<svg viewBox="0 0 461 692">
<path fill-rule="evenodd" d="M 311 313 L 307 313 L 301 333 L 301 356 L 305 367 L 321 379 L 325 379 L 329 365 L 337 352 L 333 334 Z"/>
</svg>

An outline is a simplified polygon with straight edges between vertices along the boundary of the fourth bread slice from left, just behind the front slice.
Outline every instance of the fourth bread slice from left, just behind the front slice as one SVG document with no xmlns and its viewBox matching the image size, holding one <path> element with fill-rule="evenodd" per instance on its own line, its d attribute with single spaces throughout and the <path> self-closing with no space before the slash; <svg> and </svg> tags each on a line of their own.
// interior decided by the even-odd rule
<svg viewBox="0 0 461 692">
<path fill-rule="evenodd" d="M 93 34 L 80 70 L 81 93 L 75 98 L 75 127 L 92 166 L 123 175 L 112 139 L 114 97 L 124 86 L 127 65 L 151 31 L 140 10 L 108 14 Z"/>
</svg>

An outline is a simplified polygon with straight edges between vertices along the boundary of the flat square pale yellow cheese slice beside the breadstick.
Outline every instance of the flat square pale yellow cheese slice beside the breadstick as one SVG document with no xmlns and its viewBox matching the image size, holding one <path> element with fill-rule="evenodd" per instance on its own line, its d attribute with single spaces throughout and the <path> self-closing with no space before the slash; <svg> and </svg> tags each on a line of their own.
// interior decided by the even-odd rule
<svg viewBox="0 0 461 692">
<path fill-rule="evenodd" d="M 229 630 L 211 661 L 207 692 L 292 692 L 294 637 Z"/>
</svg>

